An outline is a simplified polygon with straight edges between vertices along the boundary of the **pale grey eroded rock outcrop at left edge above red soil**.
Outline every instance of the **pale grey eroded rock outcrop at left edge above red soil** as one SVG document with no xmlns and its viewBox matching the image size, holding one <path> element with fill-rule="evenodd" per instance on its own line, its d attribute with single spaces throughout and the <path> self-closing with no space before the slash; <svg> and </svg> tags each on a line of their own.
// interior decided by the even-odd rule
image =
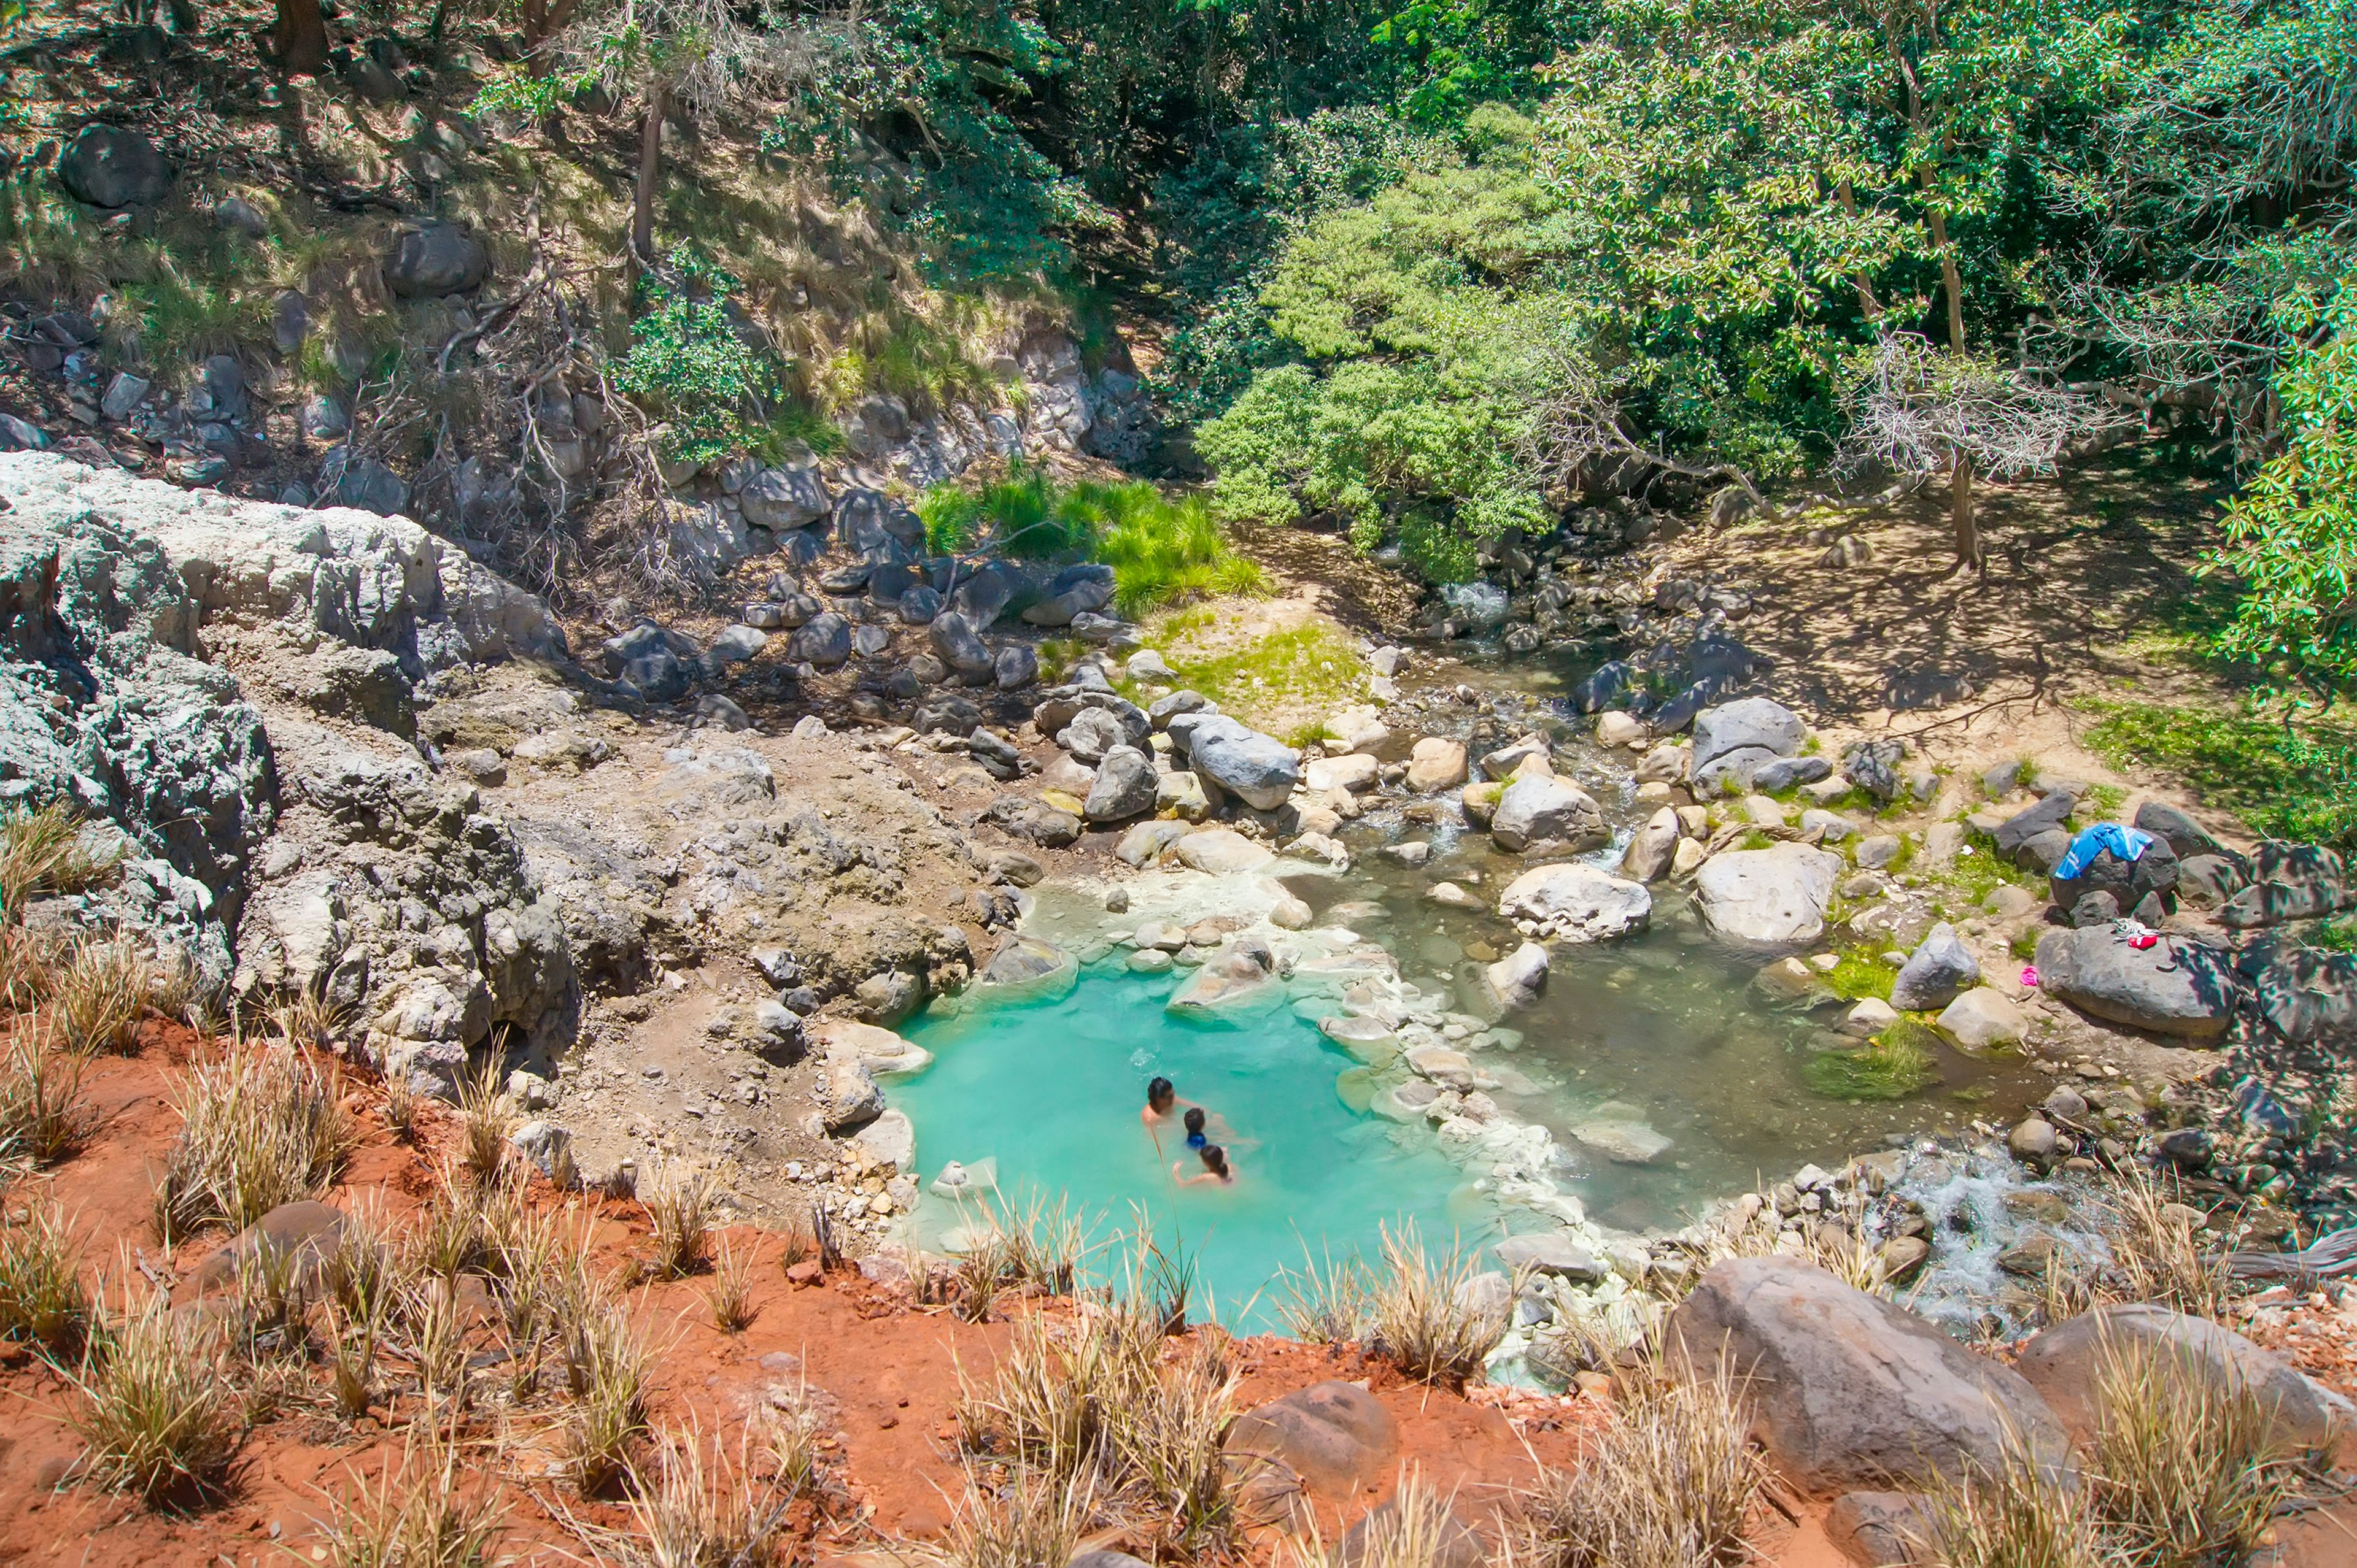
<svg viewBox="0 0 2357 1568">
<path fill-rule="evenodd" d="M 130 836 L 141 876 L 92 913 L 181 946 L 207 989 L 229 982 L 292 772 L 212 650 L 311 662 L 318 678 L 285 692 L 297 716 L 309 704 L 394 732 L 431 669 L 563 650 L 535 598 L 405 518 L 233 501 L 31 452 L 0 457 L 0 772 L 19 798 L 78 800 Z M 476 930 L 493 906 L 530 897 L 478 902 Z M 285 911 L 297 949 L 321 949 L 337 918 Z"/>
</svg>

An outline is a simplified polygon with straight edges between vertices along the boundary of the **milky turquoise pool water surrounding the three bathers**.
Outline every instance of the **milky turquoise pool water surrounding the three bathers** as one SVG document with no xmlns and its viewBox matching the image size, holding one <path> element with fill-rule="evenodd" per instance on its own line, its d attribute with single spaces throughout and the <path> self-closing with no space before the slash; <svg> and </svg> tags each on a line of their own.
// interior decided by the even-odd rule
<svg viewBox="0 0 2357 1568">
<path fill-rule="evenodd" d="M 924 1017 L 903 1034 L 933 1064 L 891 1085 L 917 1128 L 917 1163 L 931 1182 L 943 1163 L 997 1161 L 999 1191 L 1021 1208 L 1032 1191 L 1068 1196 L 1098 1217 L 1098 1234 L 1129 1229 L 1143 1208 L 1157 1241 L 1183 1241 L 1197 1281 L 1230 1326 L 1273 1326 L 1275 1274 L 1313 1255 L 1372 1255 L 1379 1227 L 1414 1220 L 1426 1243 L 1464 1245 L 1494 1234 L 1492 1208 L 1433 1151 L 1421 1125 L 1348 1109 L 1334 1078 L 1355 1062 L 1292 1010 L 1193 1024 L 1162 1010 L 1186 972 L 1138 977 L 1120 961 L 1082 972 L 1058 1001 L 983 1003 Z M 1146 1081 L 1221 1114 L 1240 1135 L 1235 1187 L 1178 1187 L 1171 1161 L 1138 1123 Z M 1193 1154 L 1186 1168 L 1200 1170 Z M 1454 1201 L 1452 1201 L 1454 1194 Z M 959 1205 L 926 1196 L 917 1236 L 938 1245 Z"/>
</svg>

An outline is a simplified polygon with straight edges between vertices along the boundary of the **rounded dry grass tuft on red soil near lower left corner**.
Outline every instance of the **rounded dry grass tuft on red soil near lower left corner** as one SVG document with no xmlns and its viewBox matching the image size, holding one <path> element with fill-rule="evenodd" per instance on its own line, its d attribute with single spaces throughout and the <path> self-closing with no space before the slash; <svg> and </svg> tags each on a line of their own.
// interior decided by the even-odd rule
<svg viewBox="0 0 2357 1568">
<path fill-rule="evenodd" d="M 68 1417 L 87 1474 L 148 1502 L 217 1488 L 245 1427 L 210 1326 L 174 1318 L 160 1302 L 90 1335 Z"/>
</svg>

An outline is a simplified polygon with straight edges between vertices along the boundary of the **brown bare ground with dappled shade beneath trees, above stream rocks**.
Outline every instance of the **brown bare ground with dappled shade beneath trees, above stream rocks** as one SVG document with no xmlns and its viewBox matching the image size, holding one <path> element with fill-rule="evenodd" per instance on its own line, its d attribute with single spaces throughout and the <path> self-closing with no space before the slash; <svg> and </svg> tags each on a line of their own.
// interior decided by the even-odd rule
<svg viewBox="0 0 2357 1568">
<path fill-rule="evenodd" d="M 1768 690 L 1827 723 L 1876 713 L 1902 730 L 1992 704 L 2046 706 L 2091 676 L 2150 676 L 2124 647 L 2199 624 L 2216 589 L 2192 574 L 2223 487 L 2143 454 L 1980 492 L 1987 572 L 1956 570 L 1945 492 L 1813 511 L 1690 539 L 1678 570 L 1730 572 L 1751 593 L 1737 629 L 1775 659 Z M 1813 530 L 1874 558 L 1831 565 Z M 1963 704 L 1959 709 L 1959 704 Z"/>
</svg>

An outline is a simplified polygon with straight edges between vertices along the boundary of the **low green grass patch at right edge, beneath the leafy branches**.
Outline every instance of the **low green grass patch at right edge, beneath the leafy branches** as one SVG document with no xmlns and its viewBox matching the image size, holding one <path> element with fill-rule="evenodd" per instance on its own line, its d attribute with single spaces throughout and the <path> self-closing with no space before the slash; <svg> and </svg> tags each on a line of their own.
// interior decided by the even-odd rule
<svg viewBox="0 0 2357 1568">
<path fill-rule="evenodd" d="M 2171 772 L 2270 838 L 2357 843 L 2357 735 L 2150 702 L 2086 706 L 2102 716 L 2086 744 L 2105 763 Z"/>
</svg>

